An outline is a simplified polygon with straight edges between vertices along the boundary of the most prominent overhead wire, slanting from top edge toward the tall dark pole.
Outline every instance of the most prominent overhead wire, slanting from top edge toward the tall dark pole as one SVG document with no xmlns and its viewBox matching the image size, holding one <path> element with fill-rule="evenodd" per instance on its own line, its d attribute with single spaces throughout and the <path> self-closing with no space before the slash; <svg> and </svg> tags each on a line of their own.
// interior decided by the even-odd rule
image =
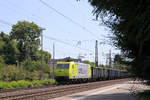
<svg viewBox="0 0 150 100">
<path fill-rule="evenodd" d="M 91 34 L 92 36 L 94 36 L 95 38 L 97 38 L 99 40 L 99 37 L 96 36 L 93 32 L 91 32 L 89 29 L 87 29 L 86 27 L 82 26 L 81 24 L 79 24 L 78 22 L 74 21 L 73 19 L 71 19 L 70 17 L 64 15 L 63 13 L 59 12 L 57 9 L 55 9 L 54 7 L 50 6 L 48 3 L 44 2 L 43 0 L 39 0 L 43 5 L 47 6 L 49 9 L 55 11 L 57 14 L 59 14 L 60 16 L 64 17 L 65 19 L 67 19 L 68 21 L 72 22 L 73 24 L 75 24 L 76 26 L 80 27 L 81 29 L 85 30 L 86 32 L 88 32 L 89 34 Z"/>
</svg>

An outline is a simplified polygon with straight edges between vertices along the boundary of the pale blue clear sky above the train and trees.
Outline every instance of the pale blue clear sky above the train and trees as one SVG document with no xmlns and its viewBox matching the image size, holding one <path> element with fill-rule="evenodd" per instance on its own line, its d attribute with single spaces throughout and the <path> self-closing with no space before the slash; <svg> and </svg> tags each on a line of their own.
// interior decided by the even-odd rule
<svg viewBox="0 0 150 100">
<path fill-rule="evenodd" d="M 9 34 L 11 25 L 18 21 L 38 24 L 43 30 L 43 49 L 53 53 L 55 58 L 82 57 L 95 61 L 95 41 L 98 40 L 99 64 L 106 64 L 111 50 L 120 53 L 107 38 L 110 29 L 95 21 L 93 7 L 87 0 L 1 0 L 0 31 Z"/>
</svg>

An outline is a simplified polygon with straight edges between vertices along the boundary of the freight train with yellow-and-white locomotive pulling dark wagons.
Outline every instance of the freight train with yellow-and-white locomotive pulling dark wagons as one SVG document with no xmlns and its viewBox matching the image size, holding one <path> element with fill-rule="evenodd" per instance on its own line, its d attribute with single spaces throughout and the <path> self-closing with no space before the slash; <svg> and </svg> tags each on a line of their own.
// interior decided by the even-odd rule
<svg viewBox="0 0 150 100">
<path fill-rule="evenodd" d="M 80 62 L 57 62 L 54 71 L 56 81 L 87 82 L 125 78 L 128 73 L 111 68 L 91 67 Z"/>
</svg>

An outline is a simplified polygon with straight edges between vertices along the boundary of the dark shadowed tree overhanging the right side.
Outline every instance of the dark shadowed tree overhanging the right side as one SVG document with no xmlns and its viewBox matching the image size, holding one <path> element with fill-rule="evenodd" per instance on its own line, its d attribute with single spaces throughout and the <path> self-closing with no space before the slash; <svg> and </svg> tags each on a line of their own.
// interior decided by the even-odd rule
<svg viewBox="0 0 150 100">
<path fill-rule="evenodd" d="M 150 1 L 89 0 L 97 19 L 111 28 L 114 44 L 132 59 L 132 72 L 150 80 Z"/>
</svg>

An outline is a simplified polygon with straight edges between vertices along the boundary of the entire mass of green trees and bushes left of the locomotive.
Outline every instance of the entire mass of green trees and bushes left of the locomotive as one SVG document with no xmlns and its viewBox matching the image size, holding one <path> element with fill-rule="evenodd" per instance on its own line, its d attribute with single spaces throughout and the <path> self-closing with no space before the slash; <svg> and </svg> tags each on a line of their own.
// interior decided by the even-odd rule
<svg viewBox="0 0 150 100">
<path fill-rule="evenodd" d="M 35 23 L 19 21 L 13 25 L 10 35 L 0 33 L 1 81 L 49 78 L 51 54 L 39 50 L 41 32 L 41 28 Z M 41 54 L 43 54 L 42 67 Z"/>
</svg>

